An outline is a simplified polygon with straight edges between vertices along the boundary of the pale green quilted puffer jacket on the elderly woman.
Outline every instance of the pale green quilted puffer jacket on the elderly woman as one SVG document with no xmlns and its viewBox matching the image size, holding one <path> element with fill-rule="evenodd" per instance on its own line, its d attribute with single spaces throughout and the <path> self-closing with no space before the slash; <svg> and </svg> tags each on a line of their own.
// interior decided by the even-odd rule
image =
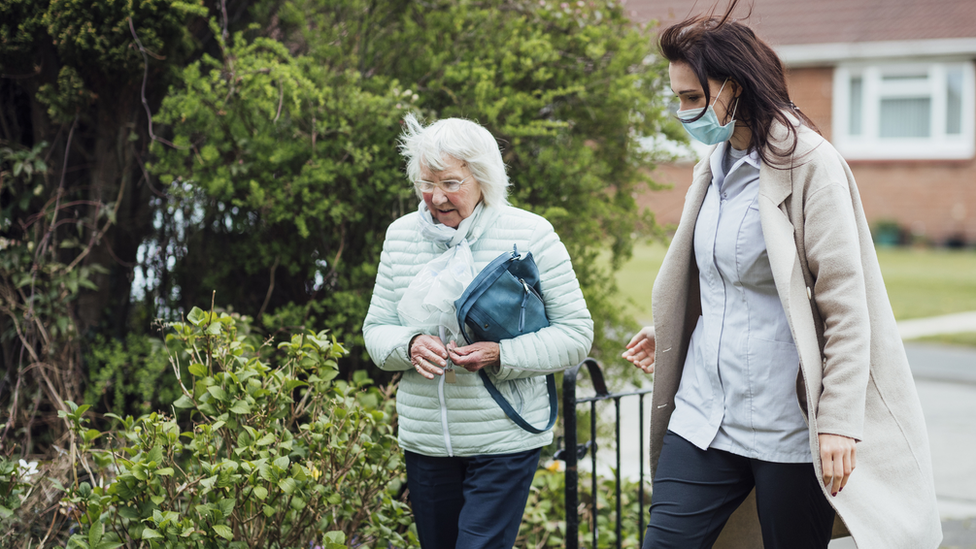
<svg viewBox="0 0 976 549">
<path fill-rule="evenodd" d="M 366 349 L 376 365 L 404 372 L 397 391 L 400 446 L 426 456 L 473 456 L 509 454 L 551 443 L 551 430 L 532 434 L 512 422 L 477 373 L 457 368 L 457 383 L 450 384 L 443 382 L 443 376 L 428 380 L 414 370 L 408 345 L 423 330 L 401 326 L 397 304 L 420 269 L 447 250 L 421 236 L 418 220 L 414 212 L 387 230 L 363 323 Z M 575 366 L 593 343 L 593 321 L 569 254 L 548 221 L 511 206 L 485 208 L 468 242 L 479 271 L 511 252 L 513 244 L 522 254 L 532 252 L 539 267 L 550 326 L 502 341 L 502 366 L 489 375 L 526 421 L 543 427 L 549 419 L 545 375 Z"/>
</svg>

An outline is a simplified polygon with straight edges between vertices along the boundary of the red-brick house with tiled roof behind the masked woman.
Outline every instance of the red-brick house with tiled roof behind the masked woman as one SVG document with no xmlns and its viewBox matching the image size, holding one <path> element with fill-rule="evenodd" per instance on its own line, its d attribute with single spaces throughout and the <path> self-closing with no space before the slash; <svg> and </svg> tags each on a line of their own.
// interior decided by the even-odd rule
<svg viewBox="0 0 976 549">
<path fill-rule="evenodd" d="M 847 159 L 872 227 L 976 244 L 976 0 L 754 0 L 751 13 L 744 4 L 735 15 L 780 55 L 791 98 Z M 713 4 L 624 5 L 656 28 Z M 659 222 L 677 222 L 692 166 L 654 172 L 674 186 L 639 199 Z"/>
</svg>

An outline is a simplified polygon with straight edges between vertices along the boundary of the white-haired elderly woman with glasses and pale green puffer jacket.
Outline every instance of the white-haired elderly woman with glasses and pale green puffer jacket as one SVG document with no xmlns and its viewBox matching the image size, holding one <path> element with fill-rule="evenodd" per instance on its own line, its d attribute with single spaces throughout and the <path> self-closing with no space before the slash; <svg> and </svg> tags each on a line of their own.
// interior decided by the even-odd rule
<svg viewBox="0 0 976 549">
<path fill-rule="evenodd" d="M 552 432 L 516 425 L 477 372 L 525 421 L 544 426 L 544 377 L 586 357 L 593 322 L 552 225 L 508 205 L 505 165 L 485 128 L 457 118 L 424 128 L 408 115 L 401 152 L 421 201 L 387 231 L 366 348 L 381 369 L 403 371 L 399 442 L 421 546 L 508 549 Z M 550 325 L 465 345 L 454 300 L 513 247 L 534 256 Z"/>
</svg>

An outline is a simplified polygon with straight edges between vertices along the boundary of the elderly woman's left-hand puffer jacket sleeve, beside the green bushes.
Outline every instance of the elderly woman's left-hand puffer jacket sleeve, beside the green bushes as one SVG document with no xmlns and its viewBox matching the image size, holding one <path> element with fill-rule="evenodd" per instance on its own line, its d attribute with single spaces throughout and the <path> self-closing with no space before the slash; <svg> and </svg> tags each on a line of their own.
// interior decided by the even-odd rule
<svg viewBox="0 0 976 549">
<path fill-rule="evenodd" d="M 400 325 L 396 311 L 399 300 L 393 280 L 394 260 L 389 249 L 391 232 L 392 227 L 387 231 L 383 242 L 373 297 L 369 302 L 366 320 L 363 321 L 363 338 L 366 341 L 366 351 L 381 370 L 399 371 L 413 368 L 408 347 L 413 336 L 420 334 L 422 330 Z"/>
</svg>

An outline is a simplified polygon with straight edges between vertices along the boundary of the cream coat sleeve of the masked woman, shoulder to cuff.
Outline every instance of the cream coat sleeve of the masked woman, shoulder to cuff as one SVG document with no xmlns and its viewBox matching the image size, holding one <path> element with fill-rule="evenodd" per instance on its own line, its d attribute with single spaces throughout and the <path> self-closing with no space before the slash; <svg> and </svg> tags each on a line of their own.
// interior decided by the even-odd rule
<svg viewBox="0 0 976 549">
<path fill-rule="evenodd" d="M 820 151 L 819 160 L 811 176 L 818 182 L 804 203 L 804 247 L 824 330 L 817 430 L 861 440 L 871 319 L 852 200 L 857 191 L 839 157 Z"/>
</svg>

